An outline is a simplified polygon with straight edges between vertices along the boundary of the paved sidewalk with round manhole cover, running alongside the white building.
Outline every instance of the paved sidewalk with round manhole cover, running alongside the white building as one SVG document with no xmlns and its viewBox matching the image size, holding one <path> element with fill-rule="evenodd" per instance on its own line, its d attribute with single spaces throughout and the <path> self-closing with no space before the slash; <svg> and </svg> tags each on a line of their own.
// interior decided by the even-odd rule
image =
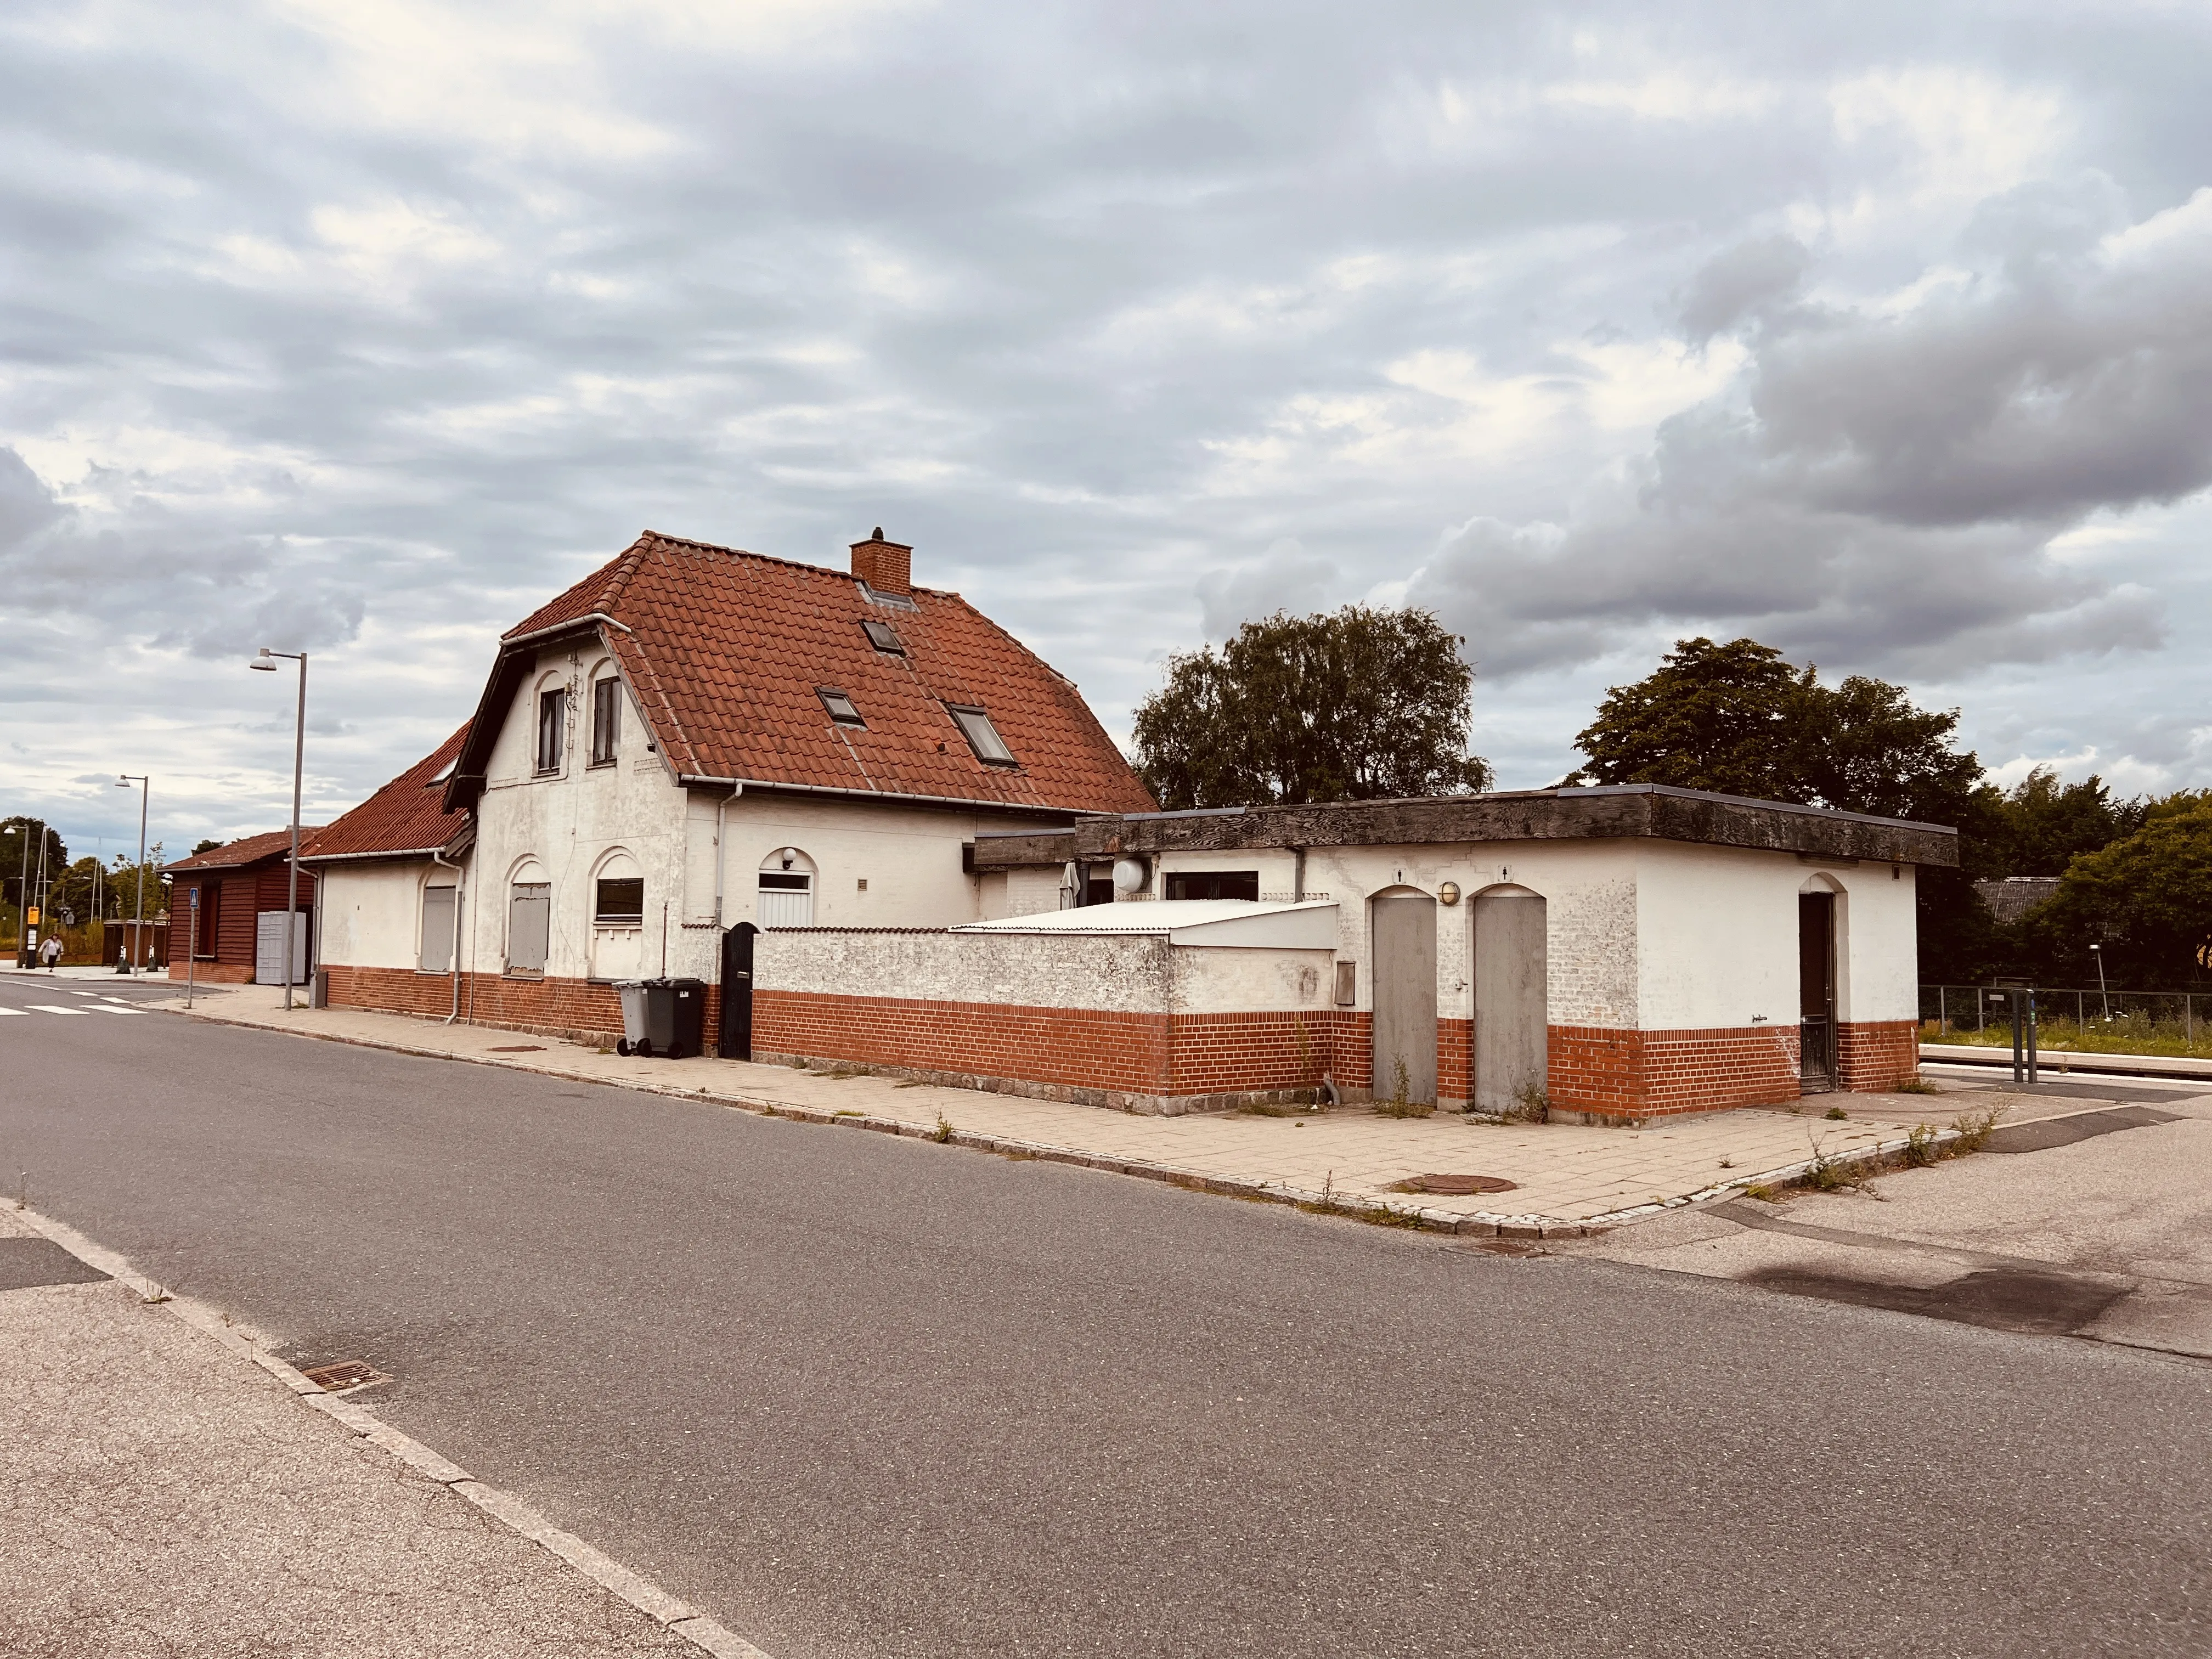
<svg viewBox="0 0 2212 1659">
<path fill-rule="evenodd" d="M 164 1004 L 148 1004 L 164 1006 Z M 166 1006 L 181 1009 L 181 1000 Z M 732 1060 L 635 1060 L 557 1037 L 445 1026 L 358 1009 L 292 1009 L 281 991 L 246 987 L 195 1018 L 358 1042 L 403 1053 L 515 1066 L 624 1088 L 710 1099 L 748 1110 L 953 1139 L 1206 1186 L 1237 1197 L 1325 1203 L 1442 1232 L 1579 1237 L 1659 1210 L 1785 1181 L 1814 1157 L 1900 1148 L 1913 1124 L 1947 1126 L 1962 1110 L 2006 1106 L 2006 1121 L 2079 1110 L 2073 1099 L 2022 1099 L 1962 1084 L 1958 1099 L 1820 1095 L 1798 1110 L 1712 1113 L 1644 1130 L 1579 1124 L 1482 1124 L 1458 1113 L 1380 1117 L 1365 1106 L 1298 1117 L 1241 1113 L 1137 1117 L 973 1088 L 863 1073 L 794 1071 Z M 1840 1106 L 1847 1121 L 1825 1113 Z M 949 1126 L 949 1128 L 947 1128 Z M 1506 1192 L 1405 1192 L 1422 1175 L 1482 1175 Z"/>
</svg>

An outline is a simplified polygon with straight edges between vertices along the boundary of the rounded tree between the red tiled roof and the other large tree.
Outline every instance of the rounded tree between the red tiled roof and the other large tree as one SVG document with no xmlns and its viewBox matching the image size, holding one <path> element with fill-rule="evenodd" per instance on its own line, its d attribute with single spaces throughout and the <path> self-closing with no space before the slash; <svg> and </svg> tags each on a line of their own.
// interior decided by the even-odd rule
<svg viewBox="0 0 2212 1659">
<path fill-rule="evenodd" d="M 1168 659 L 1137 706 L 1137 772 L 1170 812 L 1484 790 L 1462 644 L 1411 608 L 1248 622 Z"/>
</svg>

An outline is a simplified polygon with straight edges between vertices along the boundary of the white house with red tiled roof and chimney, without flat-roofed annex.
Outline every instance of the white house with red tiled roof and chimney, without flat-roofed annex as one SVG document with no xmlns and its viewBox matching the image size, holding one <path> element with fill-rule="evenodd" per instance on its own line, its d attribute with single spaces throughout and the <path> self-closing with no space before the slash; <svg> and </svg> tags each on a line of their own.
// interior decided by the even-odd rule
<svg viewBox="0 0 2212 1659">
<path fill-rule="evenodd" d="M 303 856 L 330 1002 L 615 1031 L 615 980 L 719 984 L 741 922 L 982 920 L 980 834 L 1152 805 L 1068 679 L 909 573 L 880 531 L 849 571 L 646 533 L 524 617 Z"/>
</svg>

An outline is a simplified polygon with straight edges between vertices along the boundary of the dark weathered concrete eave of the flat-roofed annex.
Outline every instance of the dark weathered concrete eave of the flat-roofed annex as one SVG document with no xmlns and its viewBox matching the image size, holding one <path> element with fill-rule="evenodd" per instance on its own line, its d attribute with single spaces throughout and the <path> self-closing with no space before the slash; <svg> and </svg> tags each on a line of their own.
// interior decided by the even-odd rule
<svg viewBox="0 0 2212 1659">
<path fill-rule="evenodd" d="M 1613 783 L 1588 790 L 1099 816 L 1062 832 L 978 836 L 975 869 L 1164 852 L 1639 838 L 1812 858 L 1958 865 L 1958 830 L 1938 823 L 1747 801 L 1666 783 Z"/>
</svg>

